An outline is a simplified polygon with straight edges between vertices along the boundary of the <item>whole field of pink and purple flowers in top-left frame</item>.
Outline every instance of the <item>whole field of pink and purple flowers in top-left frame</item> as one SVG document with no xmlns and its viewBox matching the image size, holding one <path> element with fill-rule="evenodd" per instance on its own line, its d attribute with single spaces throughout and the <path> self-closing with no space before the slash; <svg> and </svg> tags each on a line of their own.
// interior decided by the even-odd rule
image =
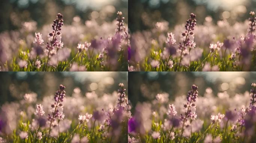
<svg viewBox="0 0 256 143">
<path fill-rule="evenodd" d="M 117 12 L 116 24 L 94 19 L 82 24 L 75 16 L 71 25 L 64 25 L 64 18 L 57 14 L 52 31 L 43 26 L 38 32 L 36 24 L 25 22 L 13 32 L 16 36 L 1 33 L 0 70 L 127 71 L 130 42 L 122 12 Z"/>
</svg>

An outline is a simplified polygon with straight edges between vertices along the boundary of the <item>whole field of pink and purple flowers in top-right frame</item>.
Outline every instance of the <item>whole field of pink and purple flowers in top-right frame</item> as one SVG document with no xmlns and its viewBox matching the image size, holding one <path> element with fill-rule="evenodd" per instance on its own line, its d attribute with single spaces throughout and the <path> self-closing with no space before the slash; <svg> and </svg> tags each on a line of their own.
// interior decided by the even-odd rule
<svg viewBox="0 0 256 143">
<path fill-rule="evenodd" d="M 129 71 L 255 71 L 254 12 L 250 12 L 250 26 L 248 20 L 215 24 L 210 16 L 204 25 L 197 25 L 193 13 L 185 31 L 183 25 L 170 28 L 160 23 L 131 35 Z M 166 34 L 169 28 L 173 31 Z"/>
</svg>

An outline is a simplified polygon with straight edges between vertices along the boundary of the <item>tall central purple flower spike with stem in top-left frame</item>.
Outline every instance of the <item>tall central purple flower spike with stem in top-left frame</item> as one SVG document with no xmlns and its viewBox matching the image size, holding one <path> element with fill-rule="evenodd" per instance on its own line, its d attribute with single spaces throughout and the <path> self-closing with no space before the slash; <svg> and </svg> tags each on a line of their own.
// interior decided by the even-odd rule
<svg viewBox="0 0 256 143">
<path fill-rule="evenodd" d="M 54 31 L 52 31 L 49 34 L 49 40 L 52 38 L 52 40 L 49 42 L 47 42 L 47 46 L 46 49 L 48 50 L 48 56 L 47 56 L 47 61 L 46 61 L 46 66 L 45 66 L 45 71 L 47 69 L 48 66 L 48 61 L 49 61 L 49 55 L 51 50 L 54 49 L 54 46 L 60 46 L 61 44 L 63 45 L 63 43 L 60 42 L 60 38 L 61 36 L 59 36 L 60 38 L 57 39 L 57 35 L 61 35 L 61 26 L 63 26 L 63 15 L 61 15 L 60 13 L 58 13 L 57 15 L 57 19 L 54 20 L 54 23 L 52 25 L 52 29 Z"/>
</svg>

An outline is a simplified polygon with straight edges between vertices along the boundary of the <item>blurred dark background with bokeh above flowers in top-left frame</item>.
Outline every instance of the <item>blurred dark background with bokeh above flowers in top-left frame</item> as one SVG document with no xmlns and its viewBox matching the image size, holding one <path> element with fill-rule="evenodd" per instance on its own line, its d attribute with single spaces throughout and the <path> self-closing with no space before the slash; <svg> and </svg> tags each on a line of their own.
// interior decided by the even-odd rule
<svg viewBox="0 0 256 143">
<path fill-rule="evenodd" d="M 57 13 L 64 15 L 66 25 L 78 17 L 82 22 L 112 22 L 117 11 L 127 18 L 128 0 L 0 0 L 0 32 L 19 29 L 26 21 L 35 21 L 41 28 L 52 23 Z"/>
</svg>

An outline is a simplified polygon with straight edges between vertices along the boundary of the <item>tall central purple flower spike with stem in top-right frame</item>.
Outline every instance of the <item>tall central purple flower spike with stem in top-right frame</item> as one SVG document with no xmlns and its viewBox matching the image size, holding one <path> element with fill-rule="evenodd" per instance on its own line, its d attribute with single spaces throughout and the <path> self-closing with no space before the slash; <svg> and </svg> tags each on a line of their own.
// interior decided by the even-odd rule
<svg viewBox="0 0 256 143">
<path fill-rule="evenodd" d="M 192 45 L 194 44 L 193 42 L 191 43 L 191 41 L 189 39 L 189 35 L 194 34 L 192 31 L 194 30 L 194 27 L 196 26 L 196 19 L 195 18 L 196 18 L 196 15 L 191 13 L 190 18 L 187 20 L 186 25 L 185 25 L 186 31 L 185 31 L 185 33 L 182 33 L 182 36 L 185 37 L 185 40 L 183 41 L 183 45 L 180 42 L 179 49 L 181 50 L 181 54 L 180 54 L 180 61 L 179 61 L 179 66 L 178 66 L 177 71 L 179 71 L 179 69 L 180 69 L 180 64 L 181 64 L 181 61 L 182 61 L 183 51 L 186 50 L 186 47 L 190 46 L 190 44 L 192 44 Z"/>
</svg>

